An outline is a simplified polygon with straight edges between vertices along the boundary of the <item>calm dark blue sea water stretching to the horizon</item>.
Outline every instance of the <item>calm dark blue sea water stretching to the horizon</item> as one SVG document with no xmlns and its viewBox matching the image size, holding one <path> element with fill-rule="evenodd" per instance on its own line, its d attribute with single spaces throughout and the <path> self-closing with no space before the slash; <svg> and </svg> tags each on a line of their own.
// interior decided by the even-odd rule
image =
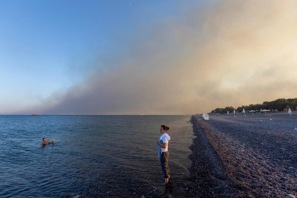
<svg viewBox="0 0 297 198">
<path fill-rule="evenodd" d="M 0 115 L 0 197 L 176 197 L 191 161 L 189 115 Z M 156 154 L 170 127 L 171 184 Z M 55 144 L 40 145 L 42 138 Z"/>
</svg>

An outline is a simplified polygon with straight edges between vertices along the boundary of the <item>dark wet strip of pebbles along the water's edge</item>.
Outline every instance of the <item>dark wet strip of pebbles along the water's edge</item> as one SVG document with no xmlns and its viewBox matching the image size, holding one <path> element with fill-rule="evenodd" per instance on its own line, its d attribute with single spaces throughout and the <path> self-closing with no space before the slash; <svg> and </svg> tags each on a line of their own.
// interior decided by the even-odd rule
<svg viewBox="0 0 297 198">
<path fill-rule="evenodd" d="M 207 127 L 198 123 L 194 115 L 190 121 L 196 137 L 189 147 L 192 151 L 189 156 L 192 165 L 189 168 L 188 185 L 182 197 L 244 197 L 244 194 L 237 190 L 243 187 L 228 178 L 222 159 L 208 141 L 205 133 Z"/>
</svg>

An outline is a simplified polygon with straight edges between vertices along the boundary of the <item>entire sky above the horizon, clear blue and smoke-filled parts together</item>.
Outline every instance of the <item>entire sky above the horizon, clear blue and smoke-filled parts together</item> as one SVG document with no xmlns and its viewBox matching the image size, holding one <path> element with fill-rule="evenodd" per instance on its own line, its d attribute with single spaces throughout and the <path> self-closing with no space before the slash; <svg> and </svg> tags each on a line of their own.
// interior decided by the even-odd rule
<svg viewBox="0 0 297 198">
<path fill-rule="evenodd" d="M 297 97 L 297 1 L 1 1 L 0 114 L 191 115 Z"/>
</svg>

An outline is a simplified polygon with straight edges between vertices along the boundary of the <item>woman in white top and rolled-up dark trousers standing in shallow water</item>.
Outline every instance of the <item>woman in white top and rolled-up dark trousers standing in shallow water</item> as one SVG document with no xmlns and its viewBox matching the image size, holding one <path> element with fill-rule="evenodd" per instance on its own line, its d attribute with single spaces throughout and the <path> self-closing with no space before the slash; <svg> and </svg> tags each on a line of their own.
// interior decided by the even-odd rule
<svg viewBox="0 0 297 198">
<path fill-rule="evenodd" d="M 168 141 L 170 140 L 170 136 L 167 134 L 169 127 L 162 125 L 160 127 L 160 133 L 162 134 L 160 139 L 157 140 L 157 143 L 163 148 L 162 155 L 160 157 L 161 168 L 164 173 L 165 183 L 168 183 L 168 179 L 170 178 L 170 170 L 168 166 Z"/>
</svg>

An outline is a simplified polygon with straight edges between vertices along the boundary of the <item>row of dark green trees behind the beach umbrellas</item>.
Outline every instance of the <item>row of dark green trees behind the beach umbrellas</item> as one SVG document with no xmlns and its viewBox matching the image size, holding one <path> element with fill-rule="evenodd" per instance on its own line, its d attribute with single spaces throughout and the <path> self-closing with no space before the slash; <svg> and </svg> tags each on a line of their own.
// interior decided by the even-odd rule
<svg viewBox="0 0 297 198">
<path fill-rule="evenodd" d="M 243 109 L 245 111 L 250 111 L 250 110 L 260 111 L 263 109 L 272 110 L 272 111 L 286 111 L 288 110 L 288 108 L 291 108 L 292 111 L 297 110 L 297 98 L 288 98 L 288 99 L 279 98 L 270 102 L 265 101 L 262 104 L 242 105 L 241 107 L 236 107 L 236 108 L 232 106 L 225 107 L 225 108 L 216 108 L 209 113 L 224 114 L 224 113 L 227 113 L 227 111 L 231 113 L 234 110 L 236 112 L 242 112 Z"/>
</svg>

